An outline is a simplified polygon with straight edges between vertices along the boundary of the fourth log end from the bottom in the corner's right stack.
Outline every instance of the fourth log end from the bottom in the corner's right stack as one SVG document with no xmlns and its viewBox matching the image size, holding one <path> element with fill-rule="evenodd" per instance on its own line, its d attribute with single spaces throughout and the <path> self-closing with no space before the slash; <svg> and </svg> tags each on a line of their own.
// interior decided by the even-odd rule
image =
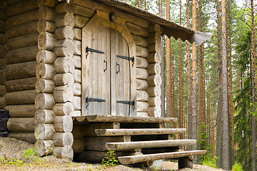
<svg viewBox="0 0 257 171">
<path fill-rule="evenodd" d="M 74 111 L 74 106 L 70 102 L 56 103 L 53 111 L 56 115 L 71 115 L 71 113 Z"/>
</svg>

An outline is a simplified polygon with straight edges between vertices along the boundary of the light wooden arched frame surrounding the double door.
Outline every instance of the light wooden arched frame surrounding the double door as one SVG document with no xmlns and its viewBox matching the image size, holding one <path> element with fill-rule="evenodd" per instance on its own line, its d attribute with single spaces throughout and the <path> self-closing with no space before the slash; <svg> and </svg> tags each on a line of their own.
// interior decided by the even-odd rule
<svg viewBox="0 0 257 171">
<path fill-rule="evenodd" d="M 126 20 L 117 17 L 116 21 L 109 19 L 110 14 L 96 9 L 96 14 L 91 20 L 82 28 L 81 33 L 81 115 L 92 115 L 86 113 L 86 69 L 89 68 L 90 63 L 86 62 L 86 46 L 91 46 L 91 37 L 99 27 L 114 28 L 116 31 L 124 36 L 126 43 L 129 46 L 129 56 L 134 58 L 130 61 L 131 68 L 131 100 L 134 100 L 135 105 L 130 105 L 130 115 L 136 116 L 136 43 L 126 26 Z"/>
</svg>

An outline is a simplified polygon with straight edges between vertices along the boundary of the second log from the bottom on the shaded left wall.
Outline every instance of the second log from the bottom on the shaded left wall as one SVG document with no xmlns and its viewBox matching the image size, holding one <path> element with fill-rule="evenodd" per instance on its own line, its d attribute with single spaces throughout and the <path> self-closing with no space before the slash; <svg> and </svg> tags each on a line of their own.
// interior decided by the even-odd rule
<svg viewBox="0 0 257 171">
<path fill-rule="evenodd" d="M 9 118 L 7 128 L 12 133 L 34 133 L 34 118 Z"/>
</svg>

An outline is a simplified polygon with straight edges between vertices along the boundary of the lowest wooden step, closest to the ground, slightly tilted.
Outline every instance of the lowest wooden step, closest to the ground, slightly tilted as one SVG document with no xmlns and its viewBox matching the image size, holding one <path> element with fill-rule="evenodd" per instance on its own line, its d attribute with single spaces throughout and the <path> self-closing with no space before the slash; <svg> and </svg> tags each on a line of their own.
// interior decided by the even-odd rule
<svg viewBox="0 0 257 171">
<path fill-rule="evenodd" d="M 165 152 L 156 153 L 151 155 L 133 155 L 133 156 L 123 156 L 119 157 L 119 162 L 122 165 L 131 165 L 138 162 L 147 162 L 153 160 L 164 160 L 164 159 L 178 159 L 181 157 L 188 157 L 191 155 L 205 155 L 206 150 L 192 150 L 184 152 Z"/>
</svg>

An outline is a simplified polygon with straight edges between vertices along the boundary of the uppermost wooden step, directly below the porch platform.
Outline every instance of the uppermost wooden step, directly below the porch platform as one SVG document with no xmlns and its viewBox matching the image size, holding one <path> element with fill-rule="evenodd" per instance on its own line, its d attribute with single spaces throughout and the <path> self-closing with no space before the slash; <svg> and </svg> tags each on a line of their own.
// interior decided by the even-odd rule
<svg viewBox="0 0 257 171">
<path fill-rule="evenodd" d="M 161 135 L 186 133 L 184 128 L 149 128 L 149 129 L 96 129 L 98 136 L 119 135 Z"/>
</svg>

